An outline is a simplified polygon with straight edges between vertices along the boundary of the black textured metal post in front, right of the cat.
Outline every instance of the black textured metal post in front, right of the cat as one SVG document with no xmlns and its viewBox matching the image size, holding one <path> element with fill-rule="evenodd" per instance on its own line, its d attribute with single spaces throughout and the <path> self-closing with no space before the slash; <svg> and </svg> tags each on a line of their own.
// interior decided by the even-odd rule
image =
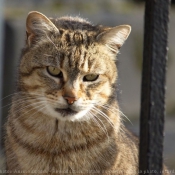
<svg viewBox="0 0 175 175">
<path fill-rule="evenodd" d="M 169 0 L 145 1 L 140 174 L 162 174 Z"/>
</svg>

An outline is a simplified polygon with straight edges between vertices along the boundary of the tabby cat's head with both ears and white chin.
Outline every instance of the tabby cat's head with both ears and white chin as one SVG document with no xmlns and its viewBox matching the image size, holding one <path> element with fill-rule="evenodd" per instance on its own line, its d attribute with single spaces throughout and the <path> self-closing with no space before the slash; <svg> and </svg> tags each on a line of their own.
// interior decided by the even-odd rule
<svg viewBox="0 0 175 175">
<path fill-rule="evenodd" d="M 130 30 L 128 25 L 107 28 L 78 17 L 49 19 L 30 12 L 20 91 L 35 96 L 43 113 L 60 120 L 93 116 L 116 91 L 116 55 Z"/>
</svg>

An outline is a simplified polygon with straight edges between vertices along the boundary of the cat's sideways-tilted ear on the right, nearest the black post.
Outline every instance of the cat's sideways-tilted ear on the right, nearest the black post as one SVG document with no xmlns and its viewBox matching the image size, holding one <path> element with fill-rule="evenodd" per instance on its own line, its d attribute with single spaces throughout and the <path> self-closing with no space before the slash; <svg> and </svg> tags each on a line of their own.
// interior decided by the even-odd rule
<svg viewBox="0 0 175 175">
<path fill-rule="evenodd" d="M 109 28 L 97 36 L 98 42 L 105 44 L 112 52 L 117 53 L 131 32 L 131 26 L 120 25 Z"/>
</svg>

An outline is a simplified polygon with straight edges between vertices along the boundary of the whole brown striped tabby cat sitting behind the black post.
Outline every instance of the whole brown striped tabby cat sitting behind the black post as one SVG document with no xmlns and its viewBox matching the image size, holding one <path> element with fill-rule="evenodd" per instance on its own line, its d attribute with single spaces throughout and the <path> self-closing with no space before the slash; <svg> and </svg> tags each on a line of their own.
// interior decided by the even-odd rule
<svg viewBox="0 0 175 175">
<path fill-rule="evenodd" d="M 130 31 L 28 14 L 6 124 L 9 174 L 138 174 L 138 139 L 116 98 L 116 56 Z"/>
</svg>

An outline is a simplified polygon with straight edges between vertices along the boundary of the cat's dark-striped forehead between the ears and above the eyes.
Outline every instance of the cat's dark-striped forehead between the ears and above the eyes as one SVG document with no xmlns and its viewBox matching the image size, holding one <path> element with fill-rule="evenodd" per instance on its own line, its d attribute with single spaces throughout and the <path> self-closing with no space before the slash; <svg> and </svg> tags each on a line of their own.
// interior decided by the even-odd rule
<svg viewBox="0 0 175 175">
<path fill-rule="evenodd" d="M 105 47 L 96 42 L 96 32 L 66 29 L 52 42 L 49 42 L 52 57 L 58 66 L 68 71 L 100 72 L 103 69 Z M 101 48 L 103 47 L 103 48 Z M 45 50 L 47 51 L 47 50 Z M 109 54 L 109 53 L 108 53 Z M 53 64 L 55 60 L 53 59 Z"/>
</svg>

